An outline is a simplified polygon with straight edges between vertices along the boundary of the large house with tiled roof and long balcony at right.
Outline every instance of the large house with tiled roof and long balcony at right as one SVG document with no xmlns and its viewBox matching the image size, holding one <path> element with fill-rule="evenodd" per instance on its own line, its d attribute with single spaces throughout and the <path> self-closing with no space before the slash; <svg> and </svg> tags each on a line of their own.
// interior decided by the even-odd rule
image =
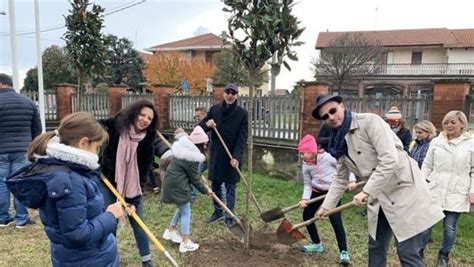
<svg viewBox="0 0 474 267">
<path fill-rule="evenodd" d="M 353 94 L 429 94 L 434 81 L 445 79 L 474 84 L 474 29 L 320 32 L 315 48 L 323 55 L 346 33 L 361 34 L 382 48 L 375 72 L 348 88 Z"/>
</svg>

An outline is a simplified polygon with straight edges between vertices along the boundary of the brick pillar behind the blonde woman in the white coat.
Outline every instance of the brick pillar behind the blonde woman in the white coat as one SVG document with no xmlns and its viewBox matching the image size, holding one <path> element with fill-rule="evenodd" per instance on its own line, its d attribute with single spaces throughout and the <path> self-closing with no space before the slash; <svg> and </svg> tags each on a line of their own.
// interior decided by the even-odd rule
<svg viewBox="0 0 474 267">
<path fill-rule="evenodd" d="M 470 82 L 463 80 L 435 81 L 433 87 L 431 122 L 433 122 L 436 128 L 443 128 L 441 122 L 449 111 L 463 111 L 466 104 L 466 95 L 469 95 L 470 87 Z M 468 115 L 469 114 L 466 116 Z"/>
</svg>

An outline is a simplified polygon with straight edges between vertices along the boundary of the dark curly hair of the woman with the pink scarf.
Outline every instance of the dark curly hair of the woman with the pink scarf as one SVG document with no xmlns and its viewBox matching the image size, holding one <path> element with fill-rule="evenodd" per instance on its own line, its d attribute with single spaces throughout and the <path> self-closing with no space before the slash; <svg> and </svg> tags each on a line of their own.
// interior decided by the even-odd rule
<svg viewBox="0 0 474 267">
<path fill-rule="evenodd" d="M 125 129 L 130 127 L 130 125 L 133 125 L 143 108 L 150 108 L 151 110 L 153 110 L 153 120 L 151 121 L 146 131 L 147 134 L 155 134 L 156 128 L 158 126 L 158 113 L 155 110 L 155 105 L 153 105 L 152 102 L 144 99 L 131 103 L 130 105 L 122 109 L 119 114 L 117 114 L 117 130 L 122 133 Z"/>
</svg>

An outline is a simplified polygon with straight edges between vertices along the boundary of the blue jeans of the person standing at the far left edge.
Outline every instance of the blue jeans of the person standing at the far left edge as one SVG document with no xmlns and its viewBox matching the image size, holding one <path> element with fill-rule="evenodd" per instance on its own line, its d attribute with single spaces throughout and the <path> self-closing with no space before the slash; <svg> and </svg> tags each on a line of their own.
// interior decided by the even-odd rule
<svg viewBox="0 0 474 267">
<path fill-rule="evenodd" d="M 28 164 L 29 161 L 26 159 L 25 153 L 0 154 L 0 223 L 11 218 L 8 212 L 10 209 L 10 191 L 8 191 L 5 179 Z M 25 224 L 29 219 L 27 208 L 16 198 L 14 205 L 16 224 Z"/>
</svg>

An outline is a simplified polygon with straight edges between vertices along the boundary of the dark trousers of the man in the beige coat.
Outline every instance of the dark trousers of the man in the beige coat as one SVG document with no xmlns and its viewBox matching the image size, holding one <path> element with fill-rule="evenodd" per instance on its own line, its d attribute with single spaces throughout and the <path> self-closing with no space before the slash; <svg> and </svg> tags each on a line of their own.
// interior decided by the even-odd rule
<svg viewBox="0 0 474 267">
<path fill-rule="evenodd" d="M 376 240 L 369 236 L 369 267 L 387 266 L 387 253 L 393 232 L 382 208 L 379 210 L 376 234 Z M 402 266 L 425 266 L 419 253 L 421 233 L 403 242 L 398 242 L 395 238 L 395 244 Z"/>
</svg>

